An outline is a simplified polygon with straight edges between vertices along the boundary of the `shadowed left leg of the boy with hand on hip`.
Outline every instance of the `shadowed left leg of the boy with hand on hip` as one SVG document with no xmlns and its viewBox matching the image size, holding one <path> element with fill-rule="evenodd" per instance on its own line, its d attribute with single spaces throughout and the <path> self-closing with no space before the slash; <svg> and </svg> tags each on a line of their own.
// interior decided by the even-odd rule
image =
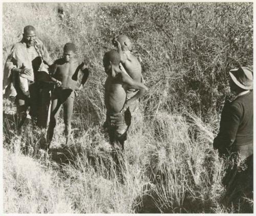
<svg viewBox="0 0 256 216">
<path fill-rule="evenodd" d="M 53 137 L 54 128 L 58 119 L 59 111 L 61 109 L 60 100 L 57 98 L 52 100 L 50 123 L 47 131 L 47 143 L 50 145 Z"/>
</svg>

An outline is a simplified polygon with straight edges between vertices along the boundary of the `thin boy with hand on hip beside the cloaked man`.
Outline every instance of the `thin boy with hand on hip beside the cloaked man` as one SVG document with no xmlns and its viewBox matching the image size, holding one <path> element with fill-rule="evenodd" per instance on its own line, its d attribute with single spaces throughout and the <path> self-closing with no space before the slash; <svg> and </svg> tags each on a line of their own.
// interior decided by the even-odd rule
<svg viewBox="0 0 256 216">
<path fill-rule="evenodd" d="M 53 137 L 61 106 L 63 106 L 66 146 L 68 145 L 71 135 L 71 117 L 73 113 L 75 91 L 79 91 L 84 87 L 89 76 L 89 69 L 83 62 L 80 63 L 78 59 L 75 58 L 75 53 L 75 45 L 73 43 L 66 43 L 63 49 L 63 58 L 57 59 L 51 68 L 51 79 L 53 82 L 57 83 L 57 87 L 52 92 L 51 116 L 47 132 L 48 148 Z M 79 70 L 83 72 L 83 77 L 81 84 L 78 87 L 77 77 Z"/>
</svg>

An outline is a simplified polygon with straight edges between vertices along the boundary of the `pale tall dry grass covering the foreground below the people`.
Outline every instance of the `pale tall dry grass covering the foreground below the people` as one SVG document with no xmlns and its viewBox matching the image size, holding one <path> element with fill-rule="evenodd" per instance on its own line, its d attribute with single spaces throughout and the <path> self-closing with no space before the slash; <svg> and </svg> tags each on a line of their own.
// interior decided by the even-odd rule
<svg viewBox="0 0 256 216">
<path fill-rule="evenodd" d="M 59 124 L 50 158 L 34 148 L 23 155 L 22 139 L 10 138 L 14 152 L 4 152 L 5 212 L 215 212 L 224 193 L 223 161 L 212 151 L 208 132 L 200 130 L 204 124 L 187 124 L 166 113 L 144 121 L 137 119 L 125 145 L 124 184 L 97 127 L 74 138 L 70 152 L 62 152 Z M 195 127 L 200 142 L 189 137 Z M 44 131 L 37 134 L 31 146 Z"/>
</svg>

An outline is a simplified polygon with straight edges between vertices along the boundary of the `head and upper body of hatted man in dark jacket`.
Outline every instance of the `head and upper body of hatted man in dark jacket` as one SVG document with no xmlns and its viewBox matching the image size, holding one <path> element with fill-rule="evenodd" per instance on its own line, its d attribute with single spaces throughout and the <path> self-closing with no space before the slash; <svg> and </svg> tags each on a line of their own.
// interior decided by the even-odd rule
<svg viewBox="0 0 256 216">
<path fill-rule="evenodd" d="M 239 153 L 244 159 L 253 154 L 253 74 L 248 67 L 239 67 L 231 69 L 229 76 L 236 98 L 224 104 L 213 145 L 221 156 Z"/>
</svg>

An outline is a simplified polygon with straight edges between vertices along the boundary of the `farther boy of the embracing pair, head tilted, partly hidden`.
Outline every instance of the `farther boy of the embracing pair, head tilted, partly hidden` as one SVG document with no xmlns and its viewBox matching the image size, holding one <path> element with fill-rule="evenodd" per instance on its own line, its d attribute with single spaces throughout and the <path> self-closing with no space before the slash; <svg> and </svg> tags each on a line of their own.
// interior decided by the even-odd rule
<svg viewBox="0 0 256 216">
<path fill-rule="evenodd" d="M 143 82 L 141 74 L 141 65 L 138 59 L 131 53 L 132 51 L 132 42 L 125 35 L 118 35 L 114 37 L 113 44 L 117 47 L 118 53 L 120 55 L 121 63 L 126 70 L 127 74 L 136 82 Z M 129 88 L 127 89 L 127 100 L 132 98 L 136 94 L 136 89 Z M 138 109 L 138 100 L 134 101 L 130 107 L 132 113 Z"/>
</svg>

